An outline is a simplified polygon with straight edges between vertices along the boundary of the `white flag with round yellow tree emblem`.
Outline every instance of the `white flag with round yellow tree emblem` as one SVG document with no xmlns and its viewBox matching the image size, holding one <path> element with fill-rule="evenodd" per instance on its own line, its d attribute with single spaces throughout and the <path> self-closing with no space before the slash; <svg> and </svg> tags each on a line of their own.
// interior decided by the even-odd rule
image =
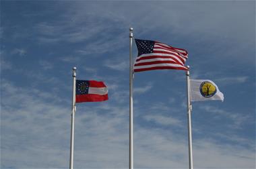
<svg viewBox="0 0 256 169">
<path fill-rule="evenodd" d="M 224 101 L 224 95 L 212 80 L 190 80 L 191 101 Z"/>
</svg>

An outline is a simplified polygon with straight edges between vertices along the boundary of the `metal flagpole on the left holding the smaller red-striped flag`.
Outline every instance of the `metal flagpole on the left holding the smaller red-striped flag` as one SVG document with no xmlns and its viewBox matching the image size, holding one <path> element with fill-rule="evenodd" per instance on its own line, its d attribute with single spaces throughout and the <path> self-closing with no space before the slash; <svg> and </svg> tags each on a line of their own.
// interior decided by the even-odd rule
<svg viewBox="0 0 256 169">
<path fill-rule="evenodd" d="M 74 148 L 74 125 L 75 125 L 75 70 L 73 67 L 73 100 L 72 100 L 72 113 L 71 113 L 71 137 L 70 137 L 70 158 L 69 158 L 69 169 L 73 169 L 73 148 Z"/>
</svg>

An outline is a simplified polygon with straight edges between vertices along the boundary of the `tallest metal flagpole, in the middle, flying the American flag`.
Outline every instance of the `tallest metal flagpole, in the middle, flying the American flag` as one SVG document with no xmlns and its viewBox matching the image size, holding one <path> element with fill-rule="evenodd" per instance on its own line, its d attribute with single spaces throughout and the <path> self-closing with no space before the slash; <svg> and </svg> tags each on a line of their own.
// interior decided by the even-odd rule
<svg viewBox="0 0 256 169">
<path fill-rule="evenodd" d="M 130 27 L 130 111 L 129 111 L 129 169 L 133 169 L 133 58 L 132 58 L 132 44 L 133 44 L 133 27 Z"/>
</svg>

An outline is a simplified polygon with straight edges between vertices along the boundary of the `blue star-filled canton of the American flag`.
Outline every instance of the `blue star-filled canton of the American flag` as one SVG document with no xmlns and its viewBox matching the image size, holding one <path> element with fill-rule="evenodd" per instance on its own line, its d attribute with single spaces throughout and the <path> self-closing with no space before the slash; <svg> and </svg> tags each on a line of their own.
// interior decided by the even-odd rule
<svg viewBox="0 0 256 169">
<path fill-rule="evenodd" d="M 136 40 L 136 45 L 138 49 L 138 56 L 141 54 L 150 54 L 153 53 L 155 42 L 152 40 Z"/>
</svg>

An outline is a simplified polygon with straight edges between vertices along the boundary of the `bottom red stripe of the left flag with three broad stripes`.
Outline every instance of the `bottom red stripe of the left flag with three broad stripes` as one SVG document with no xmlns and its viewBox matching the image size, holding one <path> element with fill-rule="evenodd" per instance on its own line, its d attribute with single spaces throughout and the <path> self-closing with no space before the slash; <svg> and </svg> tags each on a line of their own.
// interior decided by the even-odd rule
<svg viewBox="0 0 256 169">
<path fill-rule="evenodd" d="M 75 103 L 81 102 L 98 102 L 108 100 L 108 94 L 106 95 L 96 95 L 96 94 L 86 94 L 86 95 L 75 95 Z"/>
</svg>

